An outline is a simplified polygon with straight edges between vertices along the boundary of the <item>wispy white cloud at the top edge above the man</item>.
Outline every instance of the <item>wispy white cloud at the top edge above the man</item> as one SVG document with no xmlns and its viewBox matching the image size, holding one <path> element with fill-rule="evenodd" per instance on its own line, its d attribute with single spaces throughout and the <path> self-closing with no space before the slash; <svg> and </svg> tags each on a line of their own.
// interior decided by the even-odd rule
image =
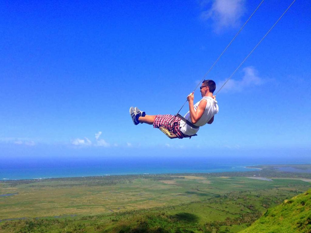
<svg viewBox="0 0 311 233">
<path fill-rule="evenodd" d="M 210 2 L 202 1 L 201 6 L 209 9 L 202 11 L 203 21 L 212 20 L 216 32 L 230 27 L 236 27 L 240 23 L 240 18 L 244 13 L 244 0 L 214 0 Z"/>
</svg>

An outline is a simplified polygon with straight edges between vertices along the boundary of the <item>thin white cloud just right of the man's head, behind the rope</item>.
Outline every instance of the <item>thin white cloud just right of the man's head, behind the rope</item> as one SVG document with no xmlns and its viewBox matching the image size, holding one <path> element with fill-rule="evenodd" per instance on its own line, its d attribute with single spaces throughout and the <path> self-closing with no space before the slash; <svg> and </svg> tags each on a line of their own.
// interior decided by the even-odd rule
<svg viewBox="0 0 311 233">
<path fill-rule="evenodd" d="M 221 91 L 241 92 L 248 87 L 259 86 L 263 83 L 263 80 L 258 76 L 258 71 L 253 66 L 245 67 L 243 72 L 244 75 L 241 80 L 234 80 L 231 78 Z M 225 81 L 226 80 L 220 81 L 217 86 L 221 87 Z"/>
</svg>

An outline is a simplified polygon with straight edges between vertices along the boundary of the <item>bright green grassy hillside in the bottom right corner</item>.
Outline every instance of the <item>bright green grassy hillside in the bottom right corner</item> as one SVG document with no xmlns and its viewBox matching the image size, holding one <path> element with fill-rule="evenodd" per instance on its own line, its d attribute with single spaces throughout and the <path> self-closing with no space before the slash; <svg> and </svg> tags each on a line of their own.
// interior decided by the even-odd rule
<svg viewBox="0 0 311 233">
<path fill-rule="evenodd" d="M 311 232 L 311 189 L 270 208 L 250 227 L 240 233 Z"/>
</svg>

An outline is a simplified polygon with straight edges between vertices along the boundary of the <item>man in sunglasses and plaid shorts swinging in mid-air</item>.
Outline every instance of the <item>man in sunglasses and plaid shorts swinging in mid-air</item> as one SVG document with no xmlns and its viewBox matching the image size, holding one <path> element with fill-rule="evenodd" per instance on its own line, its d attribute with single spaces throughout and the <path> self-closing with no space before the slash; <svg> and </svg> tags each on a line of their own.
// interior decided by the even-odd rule
<svg viewBox="0 0 311 233">
<path fill-rule="evenodd" d="M 137 107 L 130 108 L 130 115 L 135 125 L 147 123 L 154 128 L 164 126 L 178 138 L 189 137 L 196 134 L 200 126 L 213 123 L 214 115 L 218 113 L 217 101 L 213 96 L 215 89 L 216 83 L 213 80 L 204 80 L 200 87 L 202 99 L 193 105 L 194 92 L 190 93 L 187 97 L 189 112 L 184 117 L 179 114 L 146 115 Z"/>
</svg>

